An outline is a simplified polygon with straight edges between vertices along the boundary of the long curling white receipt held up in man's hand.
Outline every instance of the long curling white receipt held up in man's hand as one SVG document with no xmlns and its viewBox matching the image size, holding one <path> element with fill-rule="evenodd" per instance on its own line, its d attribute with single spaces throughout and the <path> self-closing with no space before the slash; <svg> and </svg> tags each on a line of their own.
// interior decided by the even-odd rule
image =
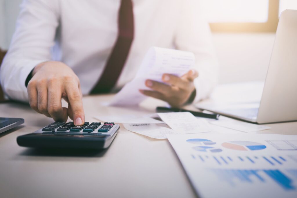
<svg viewBox="0 0 297 198">
<path fill-rule="evenodd" d="M 162 82 L 164 73 L 182 76 L 194 63 L 195 56 L 191 52 L 152 47 L 144 57 L 135 78 L 115 95 L 110 105 L 137 106 L 146 98 L 139 92 L 139 89 L 149 89 L 145 86 L 146 79 Z"/>
</svg>

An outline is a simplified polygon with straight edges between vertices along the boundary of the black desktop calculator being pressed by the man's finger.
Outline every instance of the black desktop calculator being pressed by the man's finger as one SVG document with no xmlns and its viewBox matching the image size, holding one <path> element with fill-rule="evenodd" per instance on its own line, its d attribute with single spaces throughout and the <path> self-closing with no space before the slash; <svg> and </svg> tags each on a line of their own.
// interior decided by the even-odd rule
<svg viewBox="0 0 297 198">
<path fill-rule="evenodd" d="M 108 148 L 120 126 L 113 122 L 85 122 L 75 126 L 73 122 L 53 122 L 34 133 L 18 136 L 18 145 L 35 148 Z"/>
</svg>

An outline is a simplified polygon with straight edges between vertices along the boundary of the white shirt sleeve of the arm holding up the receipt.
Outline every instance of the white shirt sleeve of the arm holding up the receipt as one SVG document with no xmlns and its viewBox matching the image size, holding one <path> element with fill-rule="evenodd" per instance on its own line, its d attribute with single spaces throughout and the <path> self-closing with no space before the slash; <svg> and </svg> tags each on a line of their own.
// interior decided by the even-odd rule
<svg viewBox="0 0 297 198">
<path fill-rule="evenodd" d="M 208 98 L 218 80 L 219 64 L 214 53 L 211 32 L 203 14 L 201 0 L 183 0 L 175 36 L 179 50 L 195 54 L 194 69 L 199 76 L 194 80 L 194 102 Z"/>
</svg>

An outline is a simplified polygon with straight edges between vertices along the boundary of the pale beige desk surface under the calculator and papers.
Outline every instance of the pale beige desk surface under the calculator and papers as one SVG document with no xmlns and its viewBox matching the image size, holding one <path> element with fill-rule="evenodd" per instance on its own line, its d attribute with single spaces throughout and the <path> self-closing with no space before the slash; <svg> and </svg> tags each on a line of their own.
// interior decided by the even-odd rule
<svg viewBox="0 0 297 198">
<path fill-rule="evenodd" d="M 146 108 L 102 105 L 112 95 L 83 98 L 86 121 L 96 115 L 147 114 Z M 19 147 L 16 138 L 53 122 L 29 105 L 0 104 L 0 117 L 21 117 L 25 123 L 0 134 L 1 197 L 196 197 L 167 140 L 156 140 L 121 129 L 105 151 L 37 151 Z M 297 122 L 271 124 L 259 133 L 297 134 Z M 222 133 L 238 133 L 220 128 Z"/>
</svg>

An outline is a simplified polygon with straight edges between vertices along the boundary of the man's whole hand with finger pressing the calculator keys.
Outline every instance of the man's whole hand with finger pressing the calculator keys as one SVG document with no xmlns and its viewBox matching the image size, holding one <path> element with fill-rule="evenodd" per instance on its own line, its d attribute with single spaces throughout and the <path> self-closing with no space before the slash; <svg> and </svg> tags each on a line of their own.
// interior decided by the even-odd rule
<svg viewBox="0 0 297 198">
<path fill-rule="evenodd" d="M 32 76 L 27 87 L 32 109 L 55 121 L 67 121 L 69 116 L 75 125 L 83 125 L 80 82 L 70 67 L 62 62 L 43 62 L 34 68 Z M 62 98 L 68 102 L 68 109 L 62 108 Z"/>
</svg>

